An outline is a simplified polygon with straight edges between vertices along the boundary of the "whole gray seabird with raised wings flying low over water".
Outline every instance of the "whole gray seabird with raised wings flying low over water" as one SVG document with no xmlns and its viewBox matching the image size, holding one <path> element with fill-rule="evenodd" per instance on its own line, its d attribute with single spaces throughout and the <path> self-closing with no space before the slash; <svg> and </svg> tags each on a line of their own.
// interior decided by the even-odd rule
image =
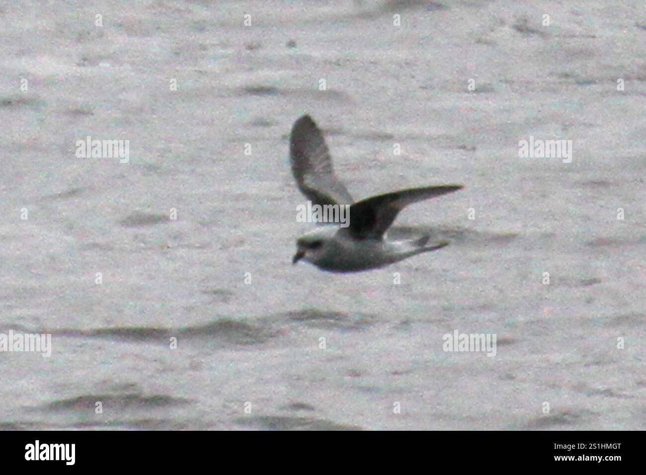
<svg viewBox="0 0 646 475">
<path fill-rule="evenodd" d="M 298 238 L 294 264 L 303 259 L 326 271 L 357 272 L 388 266 L 448 244 L 442 241 L 428 246 L 428 235 L 391 241 L 384 239 L 384 234 L 408 204 L 451 193 L 462 185 L 410 188 L 353 203 L 334 174 L 323 135 L 309 116 L 302 116 L 292 127 L 290 157 L 298 189 L 313 204 L 350 205 L 348 227 L 319 227 Z"/>
</svg>

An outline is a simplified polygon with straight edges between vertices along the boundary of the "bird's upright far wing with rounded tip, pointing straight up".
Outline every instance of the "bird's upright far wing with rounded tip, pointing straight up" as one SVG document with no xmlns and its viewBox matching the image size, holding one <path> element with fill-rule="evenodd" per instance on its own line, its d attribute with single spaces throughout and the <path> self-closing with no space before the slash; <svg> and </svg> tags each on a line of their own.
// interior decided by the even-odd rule
<svg viewBox="0 0 646 475">
<path fill-rule="evenodd" d="M 312 204 L 352 204 L 352 196 L 334 174 L 323 134 L 310 116 L 292 126 L 289 158 L 298 189 Z"/>
</svg>

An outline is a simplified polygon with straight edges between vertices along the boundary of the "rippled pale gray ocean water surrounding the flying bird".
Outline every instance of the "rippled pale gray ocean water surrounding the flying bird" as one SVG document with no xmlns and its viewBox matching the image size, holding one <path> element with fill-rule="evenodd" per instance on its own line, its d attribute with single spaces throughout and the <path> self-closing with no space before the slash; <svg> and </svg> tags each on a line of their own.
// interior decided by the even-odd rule
<svg viewBox="0 0 646 475">
<path fill-rule="evenodd" d="M 0 333 L 52 337 L 0 352 L 0 428 L 646 428 L 643 1 L 25 0 L 0 31 Z M 292 266 L 304 113 L 357 198 L 464 184 L 397 219 L 452 244 Z"/>
</svg>

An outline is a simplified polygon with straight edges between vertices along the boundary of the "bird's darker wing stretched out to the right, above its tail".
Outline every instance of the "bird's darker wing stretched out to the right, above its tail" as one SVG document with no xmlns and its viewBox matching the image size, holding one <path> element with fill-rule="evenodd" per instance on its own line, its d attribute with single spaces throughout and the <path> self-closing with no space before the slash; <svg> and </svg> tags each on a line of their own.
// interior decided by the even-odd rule
<svg viewBox="0 0 646 475">
<path fill-rule="evenodd" d="M 426 186 L 371 196 L 350 206 L 349 226 L 341 228 L 356 239 L 380 239 L 397 213 L 411 203 L 461 189 L 462 185 Z"/>
</svg>

